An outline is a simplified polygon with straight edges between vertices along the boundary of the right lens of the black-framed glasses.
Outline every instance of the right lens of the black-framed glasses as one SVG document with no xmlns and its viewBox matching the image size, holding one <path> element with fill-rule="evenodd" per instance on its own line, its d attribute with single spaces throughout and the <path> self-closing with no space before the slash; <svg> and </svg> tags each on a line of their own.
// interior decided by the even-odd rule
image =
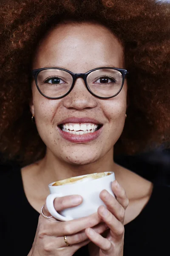
<svg viewBox="0 0 170 256">
<path fill-rule="evenodd" d="M 111 97 L 122 87 L 122 74 L 113 69 L 94 70 L 88 75 L 87 84 L 96 96 Z"/>
</svg>

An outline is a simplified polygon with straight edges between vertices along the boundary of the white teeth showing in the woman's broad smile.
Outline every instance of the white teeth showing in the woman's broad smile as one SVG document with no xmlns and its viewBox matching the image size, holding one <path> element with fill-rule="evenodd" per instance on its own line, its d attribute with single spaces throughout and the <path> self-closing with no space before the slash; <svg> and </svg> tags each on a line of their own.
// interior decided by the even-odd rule
<svg viewBox="0 0 170 256">
<path fill-rule="evenodd" d="M 98 125 L 93 123 L 66 123 L 62 125 L 62 131 L 68 132 L 70 134 L 83 135 L 87 133 L 93 133 L 96 131 Z"/>
</svg>

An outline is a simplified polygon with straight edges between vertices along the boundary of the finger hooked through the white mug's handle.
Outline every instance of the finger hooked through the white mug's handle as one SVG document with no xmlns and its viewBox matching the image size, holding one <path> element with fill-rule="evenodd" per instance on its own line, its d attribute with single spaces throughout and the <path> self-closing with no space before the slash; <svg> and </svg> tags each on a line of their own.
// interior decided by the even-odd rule
<svg viewBox="0 0 170 256">
<path fill-rule="evenodd" d="M 67 195 L 60 198 L 55 198 L 54 200 L 54 208 L 57 212 L 62 211 L 67 208 L 75 207 L 82 203 L 82 197 L 80 195 Z M 45 216 L 51 216 L 48 212 L 46 204 L 43 207 L 43 213 Z"/>
</svg>

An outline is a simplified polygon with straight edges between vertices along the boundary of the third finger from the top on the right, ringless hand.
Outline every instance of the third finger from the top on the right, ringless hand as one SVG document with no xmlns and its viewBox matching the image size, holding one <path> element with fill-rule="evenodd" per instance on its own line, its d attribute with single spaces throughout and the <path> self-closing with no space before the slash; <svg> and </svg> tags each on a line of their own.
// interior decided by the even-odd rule
<svg viewBox="0 0 170 256">
<path fill-rule="evenodd" d="M 124 225 L 103 205 L 98 208 L 98 214 L 110 228 L 111 236 L 116 239 L 122 238 L 124 234 Z"/>
</svg>

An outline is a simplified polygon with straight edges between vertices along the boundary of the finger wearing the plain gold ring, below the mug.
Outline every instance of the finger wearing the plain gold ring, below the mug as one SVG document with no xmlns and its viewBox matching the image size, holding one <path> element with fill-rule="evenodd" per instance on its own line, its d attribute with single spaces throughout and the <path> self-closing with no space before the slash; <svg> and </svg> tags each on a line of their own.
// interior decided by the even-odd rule
<svg viewBox="0 0 170 256">
<path fill-rule="evenodd" d="M 104 223 L 100 223 L 96 227 L 93 227 L 93 230 L 98 234 L 102 234 L 105 230 L 107 230 L 107 227 Z M 85 230 L 79 233 L 76 233 L 74 235 L 67 236 L 67 241 L 68 241 L 68 244 L 70 245 L 79 244 L 83 241 L 86 241 L 87 239 L 88 239 L 88 236 L 86 235 Z M 57 239 L 57 244 L 59 244 L 59 247 L 67 246 L 63 236 Z"/>
</svg>

